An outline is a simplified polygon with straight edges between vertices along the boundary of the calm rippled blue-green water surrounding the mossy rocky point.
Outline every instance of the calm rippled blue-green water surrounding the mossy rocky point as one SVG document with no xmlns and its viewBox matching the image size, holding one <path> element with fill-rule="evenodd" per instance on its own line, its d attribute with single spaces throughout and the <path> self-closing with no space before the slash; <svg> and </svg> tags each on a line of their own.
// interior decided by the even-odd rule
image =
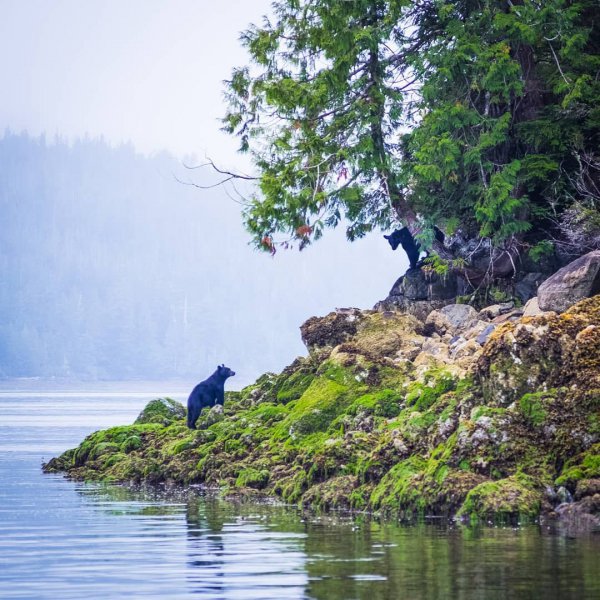
<svg viewBox="0 0 600 600">
<path fill-rule="evenodd" d="M 0 391 L 1 598 L 600 598 L 598 535 L 314 518 L 41 473 L 165 393 L 186 395 Z"/>
</svg>

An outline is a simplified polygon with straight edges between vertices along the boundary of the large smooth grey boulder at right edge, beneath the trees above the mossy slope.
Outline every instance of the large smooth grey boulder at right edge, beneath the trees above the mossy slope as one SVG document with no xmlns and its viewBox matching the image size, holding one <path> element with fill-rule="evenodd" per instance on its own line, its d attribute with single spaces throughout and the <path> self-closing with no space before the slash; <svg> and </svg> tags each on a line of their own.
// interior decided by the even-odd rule
<svg viewBox="0 0 600 600">
<path fill-rule="evenodd" d="M 538 289 L 543 311 L 564 312 L 576 302 L 600 293 L 600 250 L 574 260 L 546 279 Z"/>
</svg>

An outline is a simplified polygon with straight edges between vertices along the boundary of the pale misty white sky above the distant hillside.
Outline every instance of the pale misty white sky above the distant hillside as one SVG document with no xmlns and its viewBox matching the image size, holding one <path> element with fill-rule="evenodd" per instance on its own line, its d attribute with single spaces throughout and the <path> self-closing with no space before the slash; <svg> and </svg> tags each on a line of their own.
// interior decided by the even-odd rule
<svg viewBox="0 0 600 600">
<path fill-rule="evenodd" d="M 267 0 L 0 0 L 0 126 L 206 152 L 228 164 L 223 79 Z"/>
</svg>

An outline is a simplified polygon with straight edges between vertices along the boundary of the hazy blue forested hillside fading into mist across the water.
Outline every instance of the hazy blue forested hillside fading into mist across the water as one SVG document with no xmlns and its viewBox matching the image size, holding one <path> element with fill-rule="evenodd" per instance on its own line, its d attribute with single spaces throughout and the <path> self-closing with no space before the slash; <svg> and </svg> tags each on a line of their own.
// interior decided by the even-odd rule
<svg viewBox="0 0 600 600">
<path fill-rule="evenodd" d="M 194 378 L 226 362 L 251 379 L 302 351 L 305 318 L 368 306 L 403 270 L 375 239 L 254 252 L 239 206 L 178 170 L 131 146 L 5 133 L 0 377 Z"/>
</svg>

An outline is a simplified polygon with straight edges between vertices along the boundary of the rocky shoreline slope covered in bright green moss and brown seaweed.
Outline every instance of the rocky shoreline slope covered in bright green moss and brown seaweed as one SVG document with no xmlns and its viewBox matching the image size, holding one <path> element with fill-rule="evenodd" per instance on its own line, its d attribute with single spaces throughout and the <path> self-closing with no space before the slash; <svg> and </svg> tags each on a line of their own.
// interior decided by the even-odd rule
<svg viewBox="0 0 600 600">
<path fill-rule="evenodd" d="M 198 430 L 158 399 L 45 470 L 486 521 L 559 514 L 548 490 L 565 486 L 577 510 L 595 510 L 600 296 L 502 324 L 465 356 L 389 311 L 337 311 L 304 329 L 309 356 L 228 392 Z"/>
</svg>

